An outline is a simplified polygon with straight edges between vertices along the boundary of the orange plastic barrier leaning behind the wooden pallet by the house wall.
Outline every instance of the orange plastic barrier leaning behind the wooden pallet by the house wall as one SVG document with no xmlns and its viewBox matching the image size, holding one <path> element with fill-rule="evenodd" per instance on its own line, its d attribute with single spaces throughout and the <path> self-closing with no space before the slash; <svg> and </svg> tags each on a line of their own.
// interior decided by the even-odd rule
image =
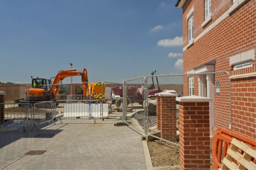
<svg viewBox="0 0 256 170">
<path fill-rule="evenodd" d="M 224 149 L 223 149 L 223 158 L 227 155 L 227 148 L 230 147 L 231 141 L 233 138 L 244 142 L 245 144 L 253 147 L 256 150 L 256 140 L 248 138 L 246 136 L 240 135 L 236 132 L 231 130 L 225 129 L 223 127 L 217 129 L 216 136 L 212 139 L 212 170 L 218 170 L 221 167 L 221 155 L 222 155 L 222 147 L 224 142 Z M 255 161 L 255 160 L 252 160 Z"/>
</svg>

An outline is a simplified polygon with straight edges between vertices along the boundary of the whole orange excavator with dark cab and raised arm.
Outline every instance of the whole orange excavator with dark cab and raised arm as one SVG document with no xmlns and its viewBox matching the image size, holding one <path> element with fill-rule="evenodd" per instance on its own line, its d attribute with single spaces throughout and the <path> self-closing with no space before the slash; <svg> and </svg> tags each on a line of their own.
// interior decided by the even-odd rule
<svg viewBox="0 0 256 170">
<path fill-rule="evenodd" d="M 61 86 L 58 84 L 64 78 L 74 76 L 81 76 L 81 82 L 83 82 L 83 97 L 84 99 L 89 99 L 90 94 L 87 93 L 87 70 L 84 68 L 59 71 L 52 83 L 50 79 L 33 78 L 31 76 L 32 88 L 29 88 L 28 91 L 26 90 L 25 98 L 15 99 L 15 103 L 26 103 L 26 101 L 29 101 L 29 103 L 33 105 L 33 103 L 35 102 L 50 100 L 56 101 L 58 99 L 61 99 Z"/>
</svg>

